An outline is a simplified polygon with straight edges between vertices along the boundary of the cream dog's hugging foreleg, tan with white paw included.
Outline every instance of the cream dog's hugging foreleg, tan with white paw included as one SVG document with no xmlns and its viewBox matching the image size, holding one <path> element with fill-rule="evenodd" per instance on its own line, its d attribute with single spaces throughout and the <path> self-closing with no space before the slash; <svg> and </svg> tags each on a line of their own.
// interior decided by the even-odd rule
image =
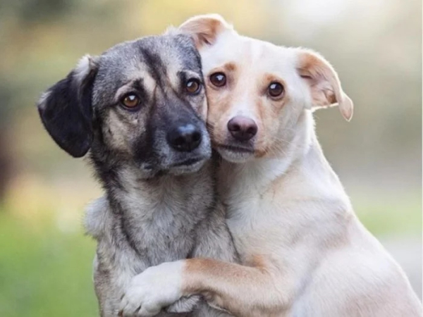
<svg viewBox="0 0 423 317">
<path fill-rule="evenodd" d="M 213 259 L 162 263 L 136 275 L 125 292 L 121 310 L 154 316 L 183 296 L 202 294 L 207 302 L 235 316 L 280 316 L 294 294 L 293 283 L 276 278 L 281 272 L 257 259 L 241 266 Z M 128 315 L 129 316 L 129 315 Z"/>
</svg>

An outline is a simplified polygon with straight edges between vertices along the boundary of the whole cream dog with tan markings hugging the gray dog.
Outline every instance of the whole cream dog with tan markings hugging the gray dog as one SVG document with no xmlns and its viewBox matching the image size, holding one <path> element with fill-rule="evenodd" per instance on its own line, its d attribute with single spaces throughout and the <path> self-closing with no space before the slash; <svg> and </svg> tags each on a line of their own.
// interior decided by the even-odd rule
<svg viewBox="0 0 423 317">
<path fill-rule="evenodd" d="M 181 27 L 202 55 L 219 190 L 243 266 L 188 259 L 137 275 L 123 307 L 190 294 L 236 316 L 422 316 L 405 274 L 357 219 L 312 111 L 353 102 L 319 54 L 238 35 L 219 15 Z"/>
</svg>

